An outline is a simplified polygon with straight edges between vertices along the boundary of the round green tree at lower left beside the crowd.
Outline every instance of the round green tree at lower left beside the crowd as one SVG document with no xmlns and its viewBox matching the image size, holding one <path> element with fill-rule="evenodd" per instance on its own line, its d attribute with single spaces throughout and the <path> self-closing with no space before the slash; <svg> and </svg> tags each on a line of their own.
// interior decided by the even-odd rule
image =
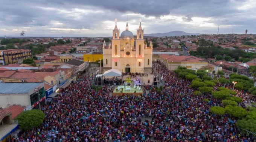
<svg viewBox="0 0 256 142">
<path fill-rule="evenodd" d="M 45 115 L 41 110 L 32 109 L 22 112 L 17 116 L 16 120 L 19 126 L 24 130 L 31 130 L 32 128 L 39 127 L 44 121 Z"/>
</svg>

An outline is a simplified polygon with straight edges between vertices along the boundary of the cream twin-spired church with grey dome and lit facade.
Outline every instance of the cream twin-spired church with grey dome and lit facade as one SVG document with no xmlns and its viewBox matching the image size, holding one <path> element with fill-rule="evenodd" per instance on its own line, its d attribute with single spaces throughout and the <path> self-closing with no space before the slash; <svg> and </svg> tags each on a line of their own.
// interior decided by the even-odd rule
<svg viewBox="0 0 256 142">
<path fill-rule="evenodd" d="M 115 20 L 117 23 L 117 20 Z M 152 68 L 152 50 L 153 45 L 150 41 L 147 47 L 143 39 L 144 30 L 141 27 L 137 29 L 136 39 L 128 28 L 119 36 L 117 24 L 113 29 L 113 39 L 111 44 L 103 44 L 103 67 L 104 69 L 117 69 L 122 73 L 143 73 L 144 69 Z"/>
</svg>

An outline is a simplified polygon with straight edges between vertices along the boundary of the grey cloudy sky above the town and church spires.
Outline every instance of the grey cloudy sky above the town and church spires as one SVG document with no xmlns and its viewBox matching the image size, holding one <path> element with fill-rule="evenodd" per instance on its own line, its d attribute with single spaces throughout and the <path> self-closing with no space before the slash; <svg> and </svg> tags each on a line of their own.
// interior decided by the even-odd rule
<svg viewBox="0 0 256 142">
<path fill-rule="evenodd" d="M 0 36 L 111 36 L 136 34 L 256 33 L 256 0 L 0 0 Z"/>
</svg>

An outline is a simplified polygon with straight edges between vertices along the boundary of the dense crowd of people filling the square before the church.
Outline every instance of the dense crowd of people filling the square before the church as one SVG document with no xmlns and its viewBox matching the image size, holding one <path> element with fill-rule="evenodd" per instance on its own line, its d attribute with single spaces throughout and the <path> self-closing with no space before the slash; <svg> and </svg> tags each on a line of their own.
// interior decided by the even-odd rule
<svg viewBox="0 0 256 142">
<path fill-rule="evenodd" d="M 211 106 L 221 101 L 211 95 L 195 96 L 191 82 L 154 65 L 163 75 L 161 92 L 144 86 L 142 96 L 111 96 L 108 86 L 91 89 L 84 77 L 42 107 L 46 118 L 40 127 L 12 141 L 27 142 L 253 142 L 242 134 L 236 118 L 216 116 Z M 203 101 L 209 99 L 209 102 Z"/>
</svg>

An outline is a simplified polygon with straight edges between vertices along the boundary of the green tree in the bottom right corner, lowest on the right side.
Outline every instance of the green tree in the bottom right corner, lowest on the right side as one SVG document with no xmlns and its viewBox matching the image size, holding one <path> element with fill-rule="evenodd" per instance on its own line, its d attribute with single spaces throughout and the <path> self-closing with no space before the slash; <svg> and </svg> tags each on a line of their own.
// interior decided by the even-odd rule
<svg viewBox="0 0 256 142">
<path fill-rule="evenodd" d="M 241 129 L 242 133 L 246 134 L 247 131 L 252 131 L 253 133 L 256 133 L 256 120 L 255 119 L 242 119 L 237 121 L 237 127 L 238 128 L 243 128 L 244 130 Z"/>
</svg>

